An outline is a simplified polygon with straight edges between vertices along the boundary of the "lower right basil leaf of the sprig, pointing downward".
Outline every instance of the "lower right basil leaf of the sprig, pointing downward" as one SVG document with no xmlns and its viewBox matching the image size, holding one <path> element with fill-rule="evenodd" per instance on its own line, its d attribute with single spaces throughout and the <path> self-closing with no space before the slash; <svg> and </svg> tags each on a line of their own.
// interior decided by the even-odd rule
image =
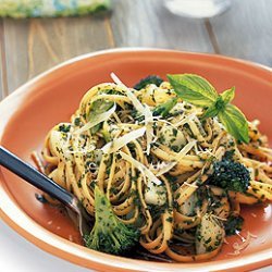
<svg viewBox="0 0 272 272">
<path fill-rule="evenodd" d="M 249 141 L 248 123 L 243 112 L 234 104 L 226 104 L 224 111 L 219 112 L 219 119 L 226 131 L 236 139 Z"/>
</svg>

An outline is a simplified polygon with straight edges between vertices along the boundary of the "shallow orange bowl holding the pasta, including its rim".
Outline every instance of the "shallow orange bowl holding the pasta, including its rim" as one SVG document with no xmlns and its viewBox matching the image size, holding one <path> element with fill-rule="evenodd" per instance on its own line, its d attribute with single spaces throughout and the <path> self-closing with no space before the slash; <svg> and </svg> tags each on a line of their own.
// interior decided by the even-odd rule
<svg viewBox="0 0 272 272">
<path fill-rule="evenodd" d="M 272 72 L 264 66 L 220 55 L 154 49 L 118 49 L 67 61 L 32 79 L 0 103 L 0 143 L 30 162 L 47 132 L 69 121 L 83 95 L 94 85 L 110 82 L 114 72 L 126 85 L 157 74 L 196 73 L 218 90 L 236 87 L 235 103 L 248 120 L 259 119 L 261 131 L 272 139 Z M 270 141 L 271 143 L 271 141 Z M 0 172 L 0 215 L 38 247 L 79 265 L 100 271 L 242 271 L 271 264 L 272 206 L 243 207 L 242 235 L 257 235 L 239 256 L 228 238 L 218 257 L 206 262 L 163 263 L 97 252 L 79 245 L 78 232 L 61 210 L 35 198 L 38 190 L 9 171 Z M 73 240 L 73 242 L 72 242 Z"/>
</svg>

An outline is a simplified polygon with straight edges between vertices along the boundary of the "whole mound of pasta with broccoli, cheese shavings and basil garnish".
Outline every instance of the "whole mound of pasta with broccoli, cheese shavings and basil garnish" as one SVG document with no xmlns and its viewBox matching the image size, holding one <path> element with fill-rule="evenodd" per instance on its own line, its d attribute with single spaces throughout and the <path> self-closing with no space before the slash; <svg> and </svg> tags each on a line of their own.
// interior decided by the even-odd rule
<svg viewBox="0 0 272 272">
<path fill-rule="evenodd" d="M 91 249 L 141 248 L 178 262 L 214 257 L 242 230 L 240 205 L 272 200 L 272 150 L 233 106 L 193 74 L 134 88 L 90 88 L 42 149 L 46 174 L 94 218 Z"/>
</svg>

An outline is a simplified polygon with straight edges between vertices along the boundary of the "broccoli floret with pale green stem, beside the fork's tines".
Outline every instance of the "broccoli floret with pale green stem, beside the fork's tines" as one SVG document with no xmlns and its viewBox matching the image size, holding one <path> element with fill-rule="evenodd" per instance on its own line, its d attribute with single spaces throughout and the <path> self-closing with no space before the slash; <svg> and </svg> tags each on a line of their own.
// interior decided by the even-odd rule
<svg viewBox="0 0 272 272">
<path fill-rule="evenodd" d="M 139 231 L 125 225 L 113 213 L 103 193 L 95 187 L 96 221 L 89 235 L 85 235 L 88 248 L 113 255 L 122 255 L 139 242 Z"/>
</svg>

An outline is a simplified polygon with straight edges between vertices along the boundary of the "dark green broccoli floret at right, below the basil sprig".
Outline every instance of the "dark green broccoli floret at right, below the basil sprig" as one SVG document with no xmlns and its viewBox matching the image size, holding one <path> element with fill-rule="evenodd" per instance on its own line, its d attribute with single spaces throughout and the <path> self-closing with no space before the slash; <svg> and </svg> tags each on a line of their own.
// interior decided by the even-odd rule
<svg viewBox="0 0 272 272">
<path fill-rule="evenodd" d="M 249 181 L 249 171 L 242 163 L 228 159 L 215 162 L 209 176 L 209 184 L 242 193 L 247 190 Z"/>
</svg>

